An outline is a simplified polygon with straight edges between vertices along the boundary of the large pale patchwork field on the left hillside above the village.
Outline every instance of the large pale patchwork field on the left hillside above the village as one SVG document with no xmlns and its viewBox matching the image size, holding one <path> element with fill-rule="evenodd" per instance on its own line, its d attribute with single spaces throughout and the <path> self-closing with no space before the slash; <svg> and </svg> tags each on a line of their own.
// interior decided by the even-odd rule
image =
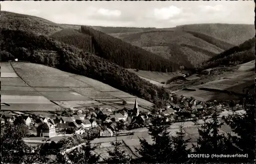
<svg viewBox="0 0 256 164">
<path fill-rule="evenodd" d="M 129 93 L 52 67 L 28 62 L 2 62 L 1 66 L 2 71 L 16 72 L 22 78 L 1 78 L 2 102 L 10 105 L 3 107 L 4 110 L 54 111 L 61 107 L 84 109 L 90 106 L 122 109 L 124 99 L 135 101 Z M 153 106 L 139 98 L 138 103 Z"/>
</svg>

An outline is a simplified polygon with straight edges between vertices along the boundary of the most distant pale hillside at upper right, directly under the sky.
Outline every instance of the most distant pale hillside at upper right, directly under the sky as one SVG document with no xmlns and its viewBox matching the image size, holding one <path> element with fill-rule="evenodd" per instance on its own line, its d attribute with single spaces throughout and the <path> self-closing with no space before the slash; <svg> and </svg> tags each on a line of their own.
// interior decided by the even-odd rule
<svg viewBox="0 0 256 164">
<path fill-rule="evenodd" d="M 195 24 L 177 26 L 177 28 L 206 34 L 233 45 L 239 45 L 255 35 L 254 25 Z"/>
</svg>

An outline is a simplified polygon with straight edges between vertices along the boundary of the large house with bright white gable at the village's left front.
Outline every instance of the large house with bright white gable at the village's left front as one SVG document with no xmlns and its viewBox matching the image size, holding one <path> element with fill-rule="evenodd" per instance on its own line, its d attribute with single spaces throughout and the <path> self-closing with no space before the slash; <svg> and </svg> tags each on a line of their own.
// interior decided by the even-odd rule
<svg viewBox="0 0 256 164">
<path fill-rule="evenodd" d="M 53 137 L 56 134 L 56 129 L 49 123 L 42 123 L 36 128 L 38 137 Z"/>
</svg>

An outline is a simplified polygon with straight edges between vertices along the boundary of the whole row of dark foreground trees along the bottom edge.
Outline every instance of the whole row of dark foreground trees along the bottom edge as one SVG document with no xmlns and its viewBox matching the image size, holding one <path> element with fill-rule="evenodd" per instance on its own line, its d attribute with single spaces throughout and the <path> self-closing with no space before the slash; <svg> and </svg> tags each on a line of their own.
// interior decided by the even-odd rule
<svg viewBox="0 0 256 164">
<path fill-rule="evenodd" d="M 64 163 L 68 160 L 72 163 L 243 163 L 255 161 L 255 94 L 247 93 L 245 97 L 245 113 L 229 114 L 223 120 L 218 119 L 214 112 L 212 119 L 198 128 L 199 137 L 196 144 L 187 148 L 189 138 L 180 126 L 176 135 L 171 136 L 168 129 L 172 123 L 166 122 L 163 116 L 154 114 L 152 126 L 147 127 L 153 143 L 148 143 L 144 138 L 139 138 L 140 146 L 136 151 L 141 155 L 132 159 L 129 154 L 120 148 L 121 142 L 116 138 L 112 142 L 112 148 L 107 152 L 109 157 L 101 157 L 95 153 L 97 147 L 92 146 L 94 137 L 88 135 L 84 138 L 84 145 L 76 148 L 70 153 L 62 154 L 65 145 L 72 142 L 70 139 L 62 139 L 57 144 L 44 144 L 37 149 L 26 146 L 22 140 L 25 123 L 23 120 L 14 121 L 14 126 L 5 125 L 1 133 L 2 161 L 10 163 L 37 161 L 39 163 L 49 162 L 49 155 L 55 155 L 52 163 Z M 221 134 L 219 128 L 223 124 L 229 125 L 236 135 L 231 133 Z M 13 135 L 14 134 L 14 135 Z M 209 154 L 209 157 L 192 158 L 191 154 Z M 248 157 L 211 158 L 211 154 L 232 155 L 247 154 Z M 101 158 L 101 160 L 100 160 Z"/>
</svg>

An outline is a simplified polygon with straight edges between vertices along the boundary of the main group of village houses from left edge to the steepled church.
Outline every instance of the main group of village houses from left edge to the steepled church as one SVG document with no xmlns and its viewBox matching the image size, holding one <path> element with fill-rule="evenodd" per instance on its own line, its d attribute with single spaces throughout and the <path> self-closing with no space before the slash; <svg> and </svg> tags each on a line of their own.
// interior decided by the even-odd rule
<svg viewBox="0 0 256 164">
<path fill-rule="evenodd" d="M 135 100 L 134 109 L 123 108 L 118 111 L 112 111 L 109 108 L 91 110 L 87 114 L 76 113 L 72 116 L 34 116 L 32 114 L 25 114 L 22 112 L 14 112 L 9 114 L 3 114 L 1 122 L 8 121 L 13 123 L 16 116 L 21 116 L 26 125 L 30 128 L 36 129 L 37 137 L 53 137 L 56 134 L 65 134 L 68 130 L 71 130 L 73 134 L 83 134 L 86 129 L 95 127 L 100 128 L 100 136 L 113 136 L 116 131 L 124 131 L 122 129 L 127 123 L 139 124 L 145 122 L 147 115 L 140 114 L 137 99 Z M 130 119 L 128 119 L 130 118 Z M 127 121 L 130 120 L 130 121 Z M 121 127 L 121 128 L 120 128 Z M 69 131 L 70 132 L 70 131 Z"/>
</svg>

